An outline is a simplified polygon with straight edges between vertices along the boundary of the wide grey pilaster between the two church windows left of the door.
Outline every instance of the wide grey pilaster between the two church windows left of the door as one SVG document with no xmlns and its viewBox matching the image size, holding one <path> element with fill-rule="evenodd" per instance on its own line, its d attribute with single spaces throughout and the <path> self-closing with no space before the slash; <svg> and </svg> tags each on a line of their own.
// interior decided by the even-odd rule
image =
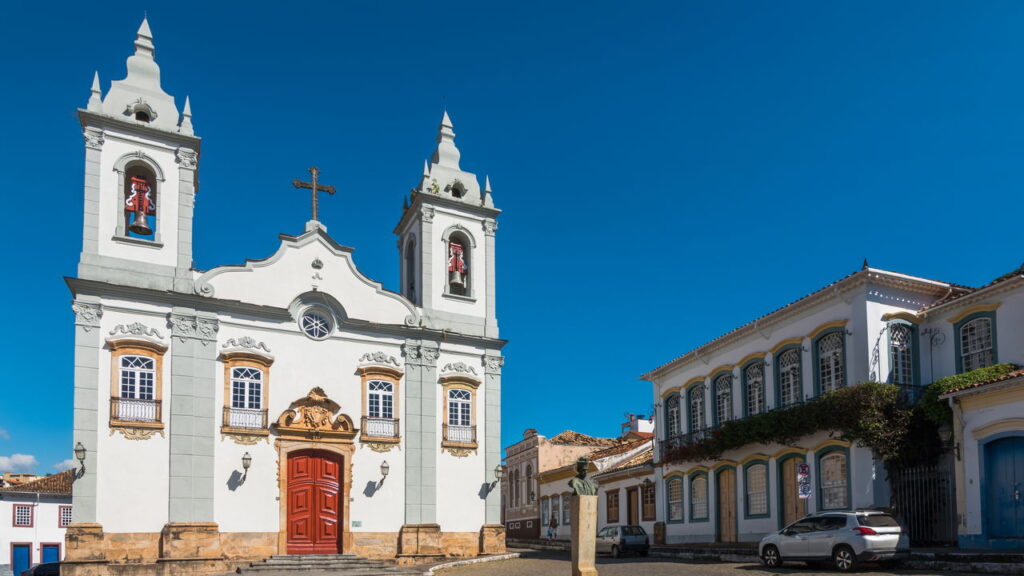
<svg viewBox="0 0 1024 576">
<path fill-rule="evenodd" d="M 215 317 L 174 307 L 171 325 L 170 523 L 212 522 L 217 407 Z"/>
</svg>

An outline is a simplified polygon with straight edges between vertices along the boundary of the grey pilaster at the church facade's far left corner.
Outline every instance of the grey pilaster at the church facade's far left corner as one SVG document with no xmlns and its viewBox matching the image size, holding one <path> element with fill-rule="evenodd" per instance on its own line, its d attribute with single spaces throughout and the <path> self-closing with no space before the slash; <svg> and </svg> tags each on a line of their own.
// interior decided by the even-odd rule
<svg viewBox="0 0 1024 576">
<path fill-rule="evenodd" d="M 72 449 L 81 442 L 85 447 L 85 471 L 75 481 L 72 522 L 96 522 L 96 469 L 99 457 L 99 348 L 103 340 L 99 321 L 103 308 L 98 301 L 85 298 L 72 302 L 75 312 L 75 412 Z"/>
</svg>

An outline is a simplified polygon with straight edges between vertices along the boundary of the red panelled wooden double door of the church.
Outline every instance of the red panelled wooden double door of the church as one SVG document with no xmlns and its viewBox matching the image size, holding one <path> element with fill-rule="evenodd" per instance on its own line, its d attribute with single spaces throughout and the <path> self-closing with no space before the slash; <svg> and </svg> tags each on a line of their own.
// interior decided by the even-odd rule
<svg viewBox="0 0 1024 576">
<path fill-rule="evenodd" d="M 315 450 L 289 455 L 288 553 L 340 552 L 341 518 L 341 457 Z"/>
</svg>

